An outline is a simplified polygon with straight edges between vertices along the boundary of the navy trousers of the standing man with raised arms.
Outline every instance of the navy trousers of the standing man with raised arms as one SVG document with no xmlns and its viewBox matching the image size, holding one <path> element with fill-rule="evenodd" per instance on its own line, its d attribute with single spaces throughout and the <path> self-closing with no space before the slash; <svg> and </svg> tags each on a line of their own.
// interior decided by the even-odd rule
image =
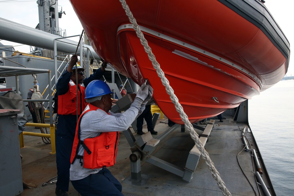
<svg viewBox="0 0 294 196">
<path fill-rule="evenodd" d="M 69 191 L 69 168 L 71 167 L 71 150 L 76 132 L 76 115 L 58 115 L 55 125 L 55 146 L 57 182 L 56 188 Z"/>
</svg>

